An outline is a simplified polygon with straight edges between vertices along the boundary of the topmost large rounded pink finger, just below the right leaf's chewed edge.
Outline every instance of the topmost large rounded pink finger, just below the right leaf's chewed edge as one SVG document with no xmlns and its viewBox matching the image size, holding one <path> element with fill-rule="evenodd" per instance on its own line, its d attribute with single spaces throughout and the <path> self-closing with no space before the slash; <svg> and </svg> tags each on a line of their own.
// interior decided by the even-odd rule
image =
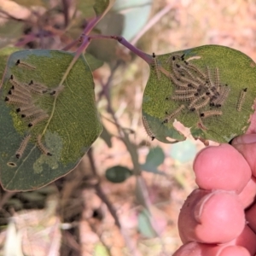
<svg viewBox="0 0 256 256">
<path fill-rule="evenodd" d="M 197 154 L 195 182 L 201 189 L 234 190 L 240 193 L 252 172 L 243 156 L 229 144 L 207 147 Z"/>
</svg>

